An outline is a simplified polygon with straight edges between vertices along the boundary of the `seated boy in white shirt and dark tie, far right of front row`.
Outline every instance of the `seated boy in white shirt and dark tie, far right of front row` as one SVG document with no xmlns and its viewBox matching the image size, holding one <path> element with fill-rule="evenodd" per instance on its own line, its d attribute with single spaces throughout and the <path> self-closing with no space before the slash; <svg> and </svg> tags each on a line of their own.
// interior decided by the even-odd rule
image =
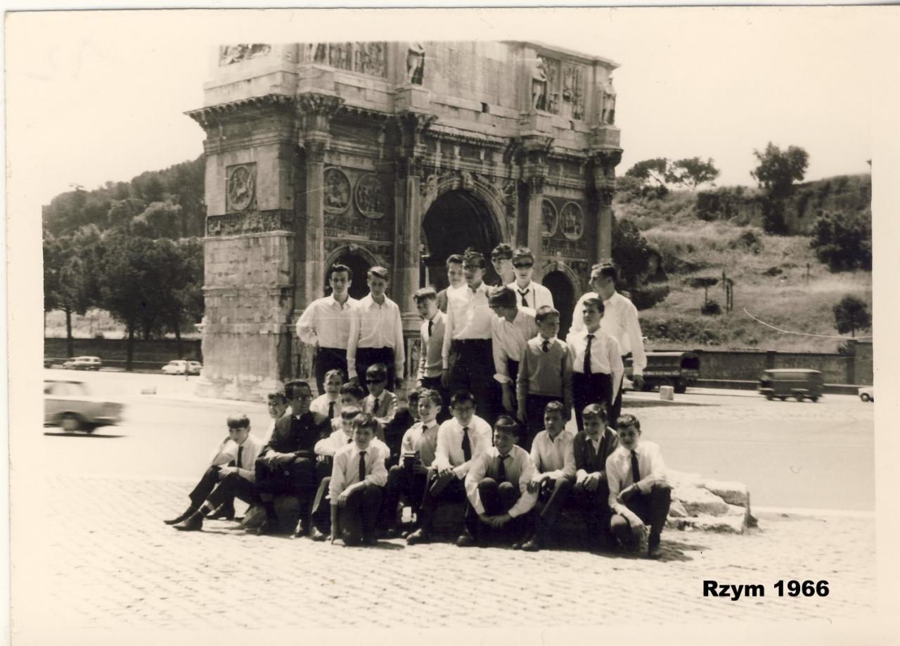
<svg viewBox="0 0 900 646">
<path fill-rule="evenodd" d="M 641 441 L 641 423 L 635 415 L 617 420 L 618 449 L 607 458 L 609 506 L 613 510 L 612 532 L 627 550 L 635 550 L 647 533 L 647 556 L 660 556 L 660 536 L 671 503 L 666 466 L 660 447 Z"/>
</svg>

